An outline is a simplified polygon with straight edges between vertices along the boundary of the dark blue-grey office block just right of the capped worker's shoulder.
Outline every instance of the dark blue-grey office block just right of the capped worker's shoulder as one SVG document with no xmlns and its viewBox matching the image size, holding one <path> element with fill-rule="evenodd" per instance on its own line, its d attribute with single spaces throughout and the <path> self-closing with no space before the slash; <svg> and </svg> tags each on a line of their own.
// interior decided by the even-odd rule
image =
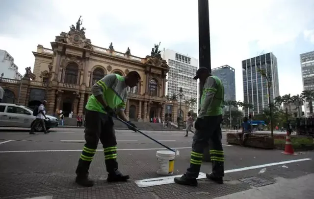
<svg viewBox="0 0 314 199">
<path fill-rule="evenodd" d="M 211 69 L 211 74 L 222 81 L 225 88 L 225 101 L 235 101 L 235 68 L 228 65 Z"/>
</svg>

